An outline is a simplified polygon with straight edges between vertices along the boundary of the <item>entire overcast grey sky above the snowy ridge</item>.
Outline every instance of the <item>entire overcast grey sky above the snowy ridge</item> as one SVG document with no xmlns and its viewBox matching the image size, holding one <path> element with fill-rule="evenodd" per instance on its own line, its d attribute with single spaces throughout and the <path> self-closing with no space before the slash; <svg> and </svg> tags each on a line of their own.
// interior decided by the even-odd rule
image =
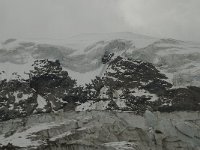
<svg viewBox="0 0 200 150">
<path fill-rule="evenodd" d="M 200 0 L 0 0 L 0 39 L 133 32 L 200 41 Z"/>
</svg>

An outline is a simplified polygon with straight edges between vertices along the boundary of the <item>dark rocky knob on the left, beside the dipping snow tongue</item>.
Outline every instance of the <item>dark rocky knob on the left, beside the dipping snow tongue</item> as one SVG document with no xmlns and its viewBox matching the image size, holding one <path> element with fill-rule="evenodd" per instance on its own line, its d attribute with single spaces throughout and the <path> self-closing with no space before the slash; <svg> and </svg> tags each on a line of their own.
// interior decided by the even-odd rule
<svg viewBox="0 0 200 150">
<path fill-rule="evenodd" d="M 59 61 L 39 60 L 33 66 L 29 74 L 30 87 L 50 103 L 52 110 L 63 108 L 67 104 L 64 99 L 75 95 L 76 81 L 62 70 Z"/>
</svg>

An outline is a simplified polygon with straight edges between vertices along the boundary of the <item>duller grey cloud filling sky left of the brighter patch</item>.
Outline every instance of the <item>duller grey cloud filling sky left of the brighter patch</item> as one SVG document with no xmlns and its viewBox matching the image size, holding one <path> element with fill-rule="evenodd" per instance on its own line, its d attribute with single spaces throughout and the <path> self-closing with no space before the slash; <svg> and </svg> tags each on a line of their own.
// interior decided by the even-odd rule
<svg viewBox="0 0 200 150">
<path fill-rule="evenodd" d="M 0 0 L 0 6 L 0 36 L 62 38 L 127 29 L 118 0 Z"/>
</svg>

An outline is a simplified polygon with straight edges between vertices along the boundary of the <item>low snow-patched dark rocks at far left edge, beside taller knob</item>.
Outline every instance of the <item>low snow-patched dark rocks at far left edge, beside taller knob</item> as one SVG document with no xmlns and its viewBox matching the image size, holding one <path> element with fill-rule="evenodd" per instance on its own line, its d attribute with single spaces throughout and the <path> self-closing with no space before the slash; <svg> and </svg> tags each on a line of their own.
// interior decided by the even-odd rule
<svg viewBox="0 0 200 150">
<path fill-rule="evenodd" d="M 1 121 L 30 115 L 37 107 L 37 93 L 27 82 L 2 81 L 0 91 Z"/>
</svg>

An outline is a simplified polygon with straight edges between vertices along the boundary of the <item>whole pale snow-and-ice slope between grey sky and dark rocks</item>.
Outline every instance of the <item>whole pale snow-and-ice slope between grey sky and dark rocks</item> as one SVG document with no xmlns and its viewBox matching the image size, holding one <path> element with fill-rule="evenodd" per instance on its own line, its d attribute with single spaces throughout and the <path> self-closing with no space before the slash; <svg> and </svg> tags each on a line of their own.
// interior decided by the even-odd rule
<svg viewBox="0 0 200 150">
<path fill-rule="evenodd" d="M 14 78 L 13 72 L 25 77 L 36 59 L 58 59 L 84 85 L 105 71 L 101 59 L 108 50 L 155 64 L 174 87 L 200 85 L 200 44 L 133 33 L 82 34 L 60 41 L 9 39 L 1 44 L 1 79 Z"/>
</svg>

